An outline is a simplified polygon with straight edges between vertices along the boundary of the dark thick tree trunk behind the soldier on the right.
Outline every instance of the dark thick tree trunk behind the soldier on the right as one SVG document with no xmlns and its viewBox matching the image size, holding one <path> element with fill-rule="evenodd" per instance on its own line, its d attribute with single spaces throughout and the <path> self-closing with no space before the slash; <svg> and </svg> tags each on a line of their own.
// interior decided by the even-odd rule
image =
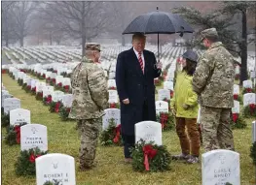
<svg viewBox="0 0 256 185">
<path fill-rule="evenodd" d="M 247 73 L 247 17 L 246 17 L 246 10 L 241 12 L 241 22 L 242 22 L 242 33 L 241 33 L 241 66 L 240 66 L 240 81 L 239 84 L 242 84 L 243 80 L 248 78 Z"/>
</svg>

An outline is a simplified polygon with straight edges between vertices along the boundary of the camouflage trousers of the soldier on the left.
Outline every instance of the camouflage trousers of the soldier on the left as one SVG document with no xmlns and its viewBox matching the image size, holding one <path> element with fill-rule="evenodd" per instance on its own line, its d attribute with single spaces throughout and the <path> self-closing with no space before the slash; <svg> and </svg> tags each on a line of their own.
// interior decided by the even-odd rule
<svg viewBox="0 0 256 185">
<path fill-rule="evenodd" d="M 81 136 L 79 149 L 81 169 L 90 169 L 93 166 L 100 126 L 101 118 L 78 120 L 78 130 Z"/>
</svg>

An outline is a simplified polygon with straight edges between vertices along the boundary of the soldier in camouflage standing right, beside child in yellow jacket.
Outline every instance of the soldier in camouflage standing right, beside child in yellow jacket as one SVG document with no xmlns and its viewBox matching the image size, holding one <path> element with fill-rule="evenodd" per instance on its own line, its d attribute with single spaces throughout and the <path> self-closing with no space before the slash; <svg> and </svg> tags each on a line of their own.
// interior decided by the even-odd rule
<svg viewBox="0 0 256 185">
<path fill-rule="evenodd" d="M 215 28 L 201 32 L 202 54 L 193 77 L 193 89 L 201 105 L 202 140 L 205 152 L 234 150 L 231 109 L 234 107 L 235 68 L 232 54 L 218 42 Z"/>
</svg>

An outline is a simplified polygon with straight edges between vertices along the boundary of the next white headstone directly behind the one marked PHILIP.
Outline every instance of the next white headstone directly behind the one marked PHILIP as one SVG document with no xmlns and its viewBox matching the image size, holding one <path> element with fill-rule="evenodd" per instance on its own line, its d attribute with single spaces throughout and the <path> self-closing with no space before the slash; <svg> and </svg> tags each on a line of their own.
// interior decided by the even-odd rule
<svg viewBox="0 0 256 185">
<path fill-rule="evenodd" d="M 31 123 L 30 110 L 16 108 L 10 111 L 10 125 L 18 125 L 20 123 Z"/>
</svg>

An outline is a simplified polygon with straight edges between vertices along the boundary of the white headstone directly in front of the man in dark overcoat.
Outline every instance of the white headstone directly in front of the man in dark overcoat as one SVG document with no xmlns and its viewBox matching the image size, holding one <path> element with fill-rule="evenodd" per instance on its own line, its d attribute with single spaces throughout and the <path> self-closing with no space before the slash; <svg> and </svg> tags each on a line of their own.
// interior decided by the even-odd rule
<svg viewBox="0 0 256 185">
<path fill-rule="evenodd" d="M 146 143 L 154 141 L 155 144 L 162 145 L 162 126 L 154 121 L 142 121 L 135 124 L 135 142 L 140 139 Z"/>
</svg>

